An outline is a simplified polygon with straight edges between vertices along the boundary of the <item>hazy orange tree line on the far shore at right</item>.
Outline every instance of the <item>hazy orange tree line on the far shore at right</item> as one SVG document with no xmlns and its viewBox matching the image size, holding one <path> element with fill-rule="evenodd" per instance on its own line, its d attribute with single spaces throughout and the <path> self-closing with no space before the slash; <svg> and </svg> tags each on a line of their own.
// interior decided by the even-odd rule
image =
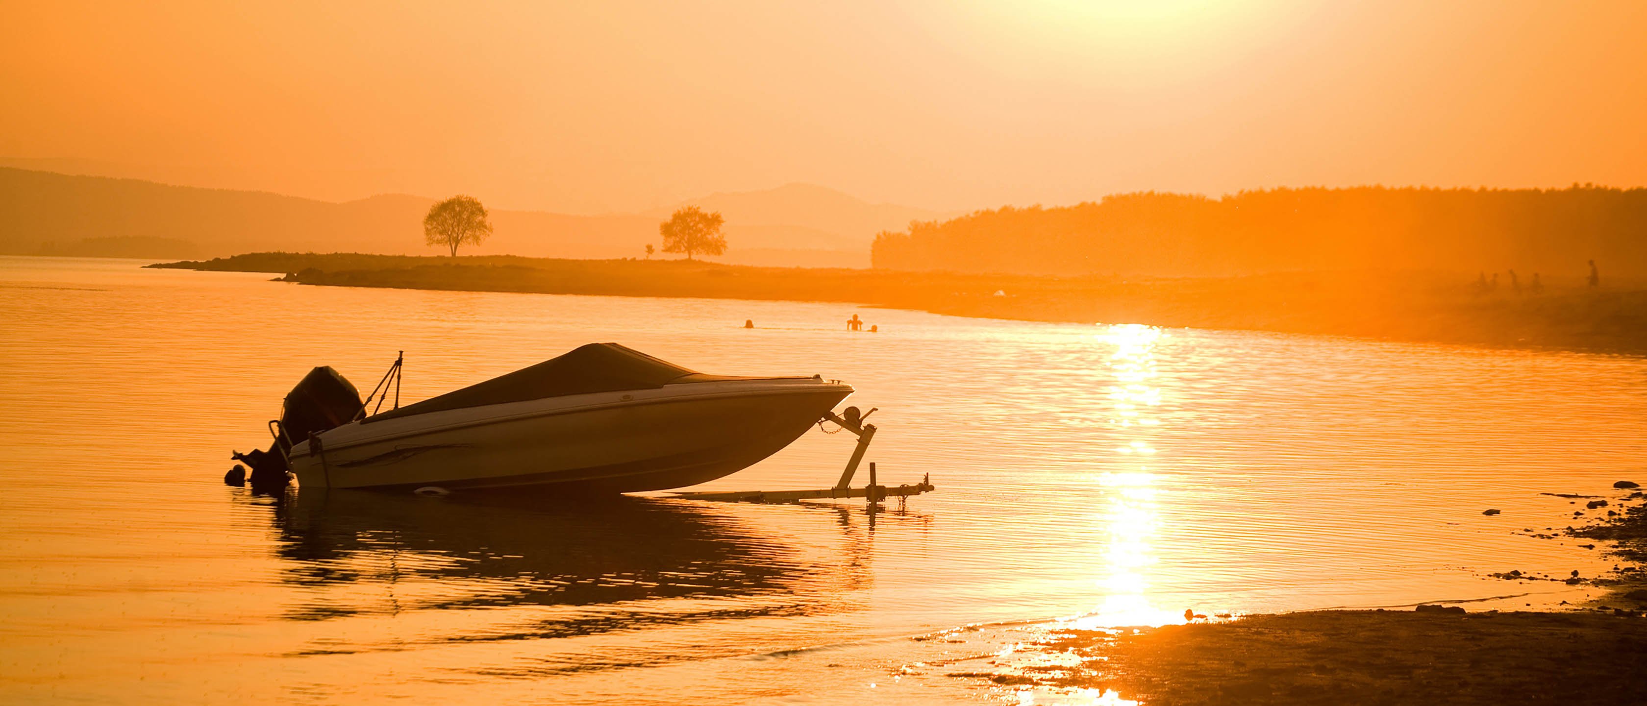
<svg viewBox="0 0 1647 706">
<path fill-rule="evenodd" d="M 1647 189 L 1262 189 L 1001 207 L 881 232 L 888 270 L 1207 276 L 1286 270 L 1520 268 L 1647 275 Z"/>
</svg>

